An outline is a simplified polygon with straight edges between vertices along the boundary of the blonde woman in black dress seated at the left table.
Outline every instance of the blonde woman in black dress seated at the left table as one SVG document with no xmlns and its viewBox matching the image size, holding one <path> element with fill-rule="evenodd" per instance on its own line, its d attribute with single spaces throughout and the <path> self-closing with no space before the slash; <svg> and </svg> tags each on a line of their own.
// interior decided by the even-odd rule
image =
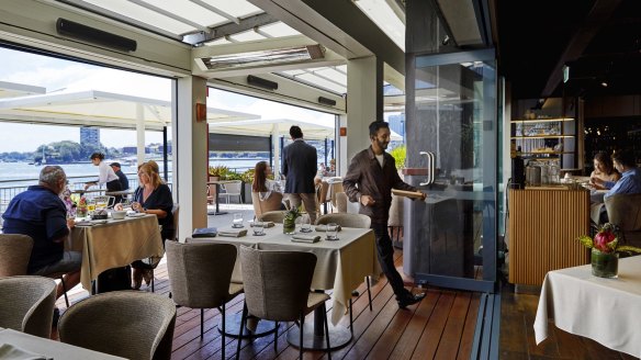
<svg viewBox="0 0 641 360">
<path fill-rule="evenodd" d="M 158 224 L 162 226 L 160 236 L 162 240 L 173 239 L 173 199 L 169 187 L 162 182 L 154 166 L 147 162 L 138 167 L 139 188 L 134 192 L 132 209 L 139 213 L 154 214 L 158 217 Z M 145 263 L 140 260 L 132 263 L 134 268 L 134 289 L 140 289 L 143 279 L 148 285 L 151 281 L 151 269 L 154 265 Z"/>
</svg>

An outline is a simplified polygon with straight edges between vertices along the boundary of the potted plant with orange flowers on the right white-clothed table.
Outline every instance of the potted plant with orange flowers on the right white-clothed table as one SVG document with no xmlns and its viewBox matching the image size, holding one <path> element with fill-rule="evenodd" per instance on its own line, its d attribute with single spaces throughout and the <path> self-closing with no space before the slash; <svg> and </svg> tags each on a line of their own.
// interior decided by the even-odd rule
<svg viewBox="0 0 641 360">
<path fill-rule="evenodd" d="M 583 235 L 577 238 L 585 247 L 592 249 L 592 274 L 599 278 L 616 278 L 619 270 L 619 252 L 641 252 L 641 248 L 619 245 L 617 225 L 607 223 L 594 236 Z"/>
</svg>

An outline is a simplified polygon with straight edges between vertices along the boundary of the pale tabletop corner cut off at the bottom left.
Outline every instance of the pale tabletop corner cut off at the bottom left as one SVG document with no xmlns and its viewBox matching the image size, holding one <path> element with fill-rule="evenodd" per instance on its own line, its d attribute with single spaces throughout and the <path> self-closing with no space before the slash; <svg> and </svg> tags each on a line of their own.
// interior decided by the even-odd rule
<svg viewBox="0 0 641 360">
<path fill-rule="evenodd" d="M 13 329 L 0 329 L 0 345 L 9 344 L 24 351 L 65 360 L 117 360 L 124 359 L 74 345 L 54 341 Z"/>
</svg>

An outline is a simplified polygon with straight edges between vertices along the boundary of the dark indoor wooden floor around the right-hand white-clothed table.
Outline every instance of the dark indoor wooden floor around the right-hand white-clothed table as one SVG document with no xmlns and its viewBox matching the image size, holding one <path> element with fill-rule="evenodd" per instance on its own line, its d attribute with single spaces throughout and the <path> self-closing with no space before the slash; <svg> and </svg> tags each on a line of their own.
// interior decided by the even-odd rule
<svg viewBox="0 0 641 360">
<path fill-rule="evenodd" d="M 553 323 L 550 324 L 549 337 L 537 346 L 533 324 L 539 296 L 515 294 L 511 286 L 504 286 L 501 303 L 499 359 L 637 359 L 588 338 L 565 333 Z"/>
</svg>

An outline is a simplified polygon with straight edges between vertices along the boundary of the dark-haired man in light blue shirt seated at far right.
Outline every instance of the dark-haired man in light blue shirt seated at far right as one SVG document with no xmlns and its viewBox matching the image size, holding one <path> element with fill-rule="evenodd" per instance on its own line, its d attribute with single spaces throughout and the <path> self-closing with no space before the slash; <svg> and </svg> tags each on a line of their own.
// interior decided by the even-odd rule
<svg viewBox="0 0 641 360">
<path fill-rule="evenodd" d="M 621 173 L 619 181 L 603 181 L 596 179 L 597 183 L 610 189 L 604 199 L 614 194 L 637 194 L 641 193 L 641 171 L 637 168 L 634 155 L 628 150 L 620 150 L 612 155 L 615 168 Z"/>
</svg>

